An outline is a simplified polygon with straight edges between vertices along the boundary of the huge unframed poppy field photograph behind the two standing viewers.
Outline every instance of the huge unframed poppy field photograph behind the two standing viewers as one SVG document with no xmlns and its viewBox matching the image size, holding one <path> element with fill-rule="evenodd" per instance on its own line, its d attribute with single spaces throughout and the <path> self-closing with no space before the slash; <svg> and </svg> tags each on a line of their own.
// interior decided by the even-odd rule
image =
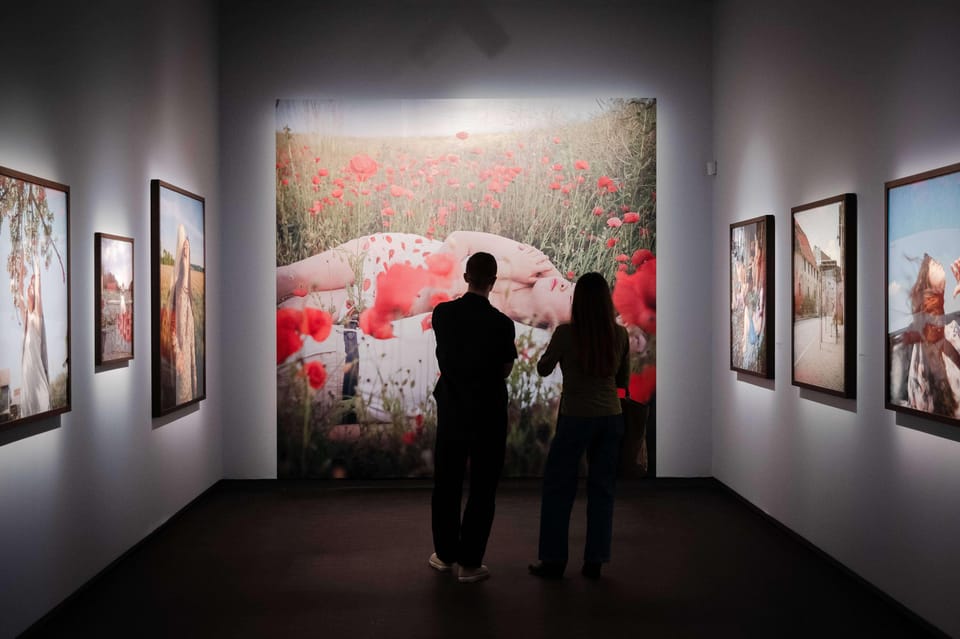
<svg viewBox="0 0 960 639">
<path fill-rule="evenodd" d="M 278 101 L 278 475 L 432 475 L 431 312 L 477 251 L 520 352 L 505 475 L 542 471 L 561 378 L 536 362 L 584 273 L 612 285 L 652 408 L 656 117 L 652 99 Z"/>
</svg>

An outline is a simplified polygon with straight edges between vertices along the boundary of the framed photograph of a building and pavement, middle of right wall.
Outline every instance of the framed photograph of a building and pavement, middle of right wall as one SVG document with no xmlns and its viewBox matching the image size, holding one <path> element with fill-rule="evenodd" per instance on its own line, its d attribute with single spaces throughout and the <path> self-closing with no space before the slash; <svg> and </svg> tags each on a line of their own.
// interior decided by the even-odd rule
<svg viewBox="0 0 960 639">
<path fill-rule="evenodd" d="M 793 214 L 793 385 L 839 397 L 857 386 L 857 196 Z"/>
</svg>

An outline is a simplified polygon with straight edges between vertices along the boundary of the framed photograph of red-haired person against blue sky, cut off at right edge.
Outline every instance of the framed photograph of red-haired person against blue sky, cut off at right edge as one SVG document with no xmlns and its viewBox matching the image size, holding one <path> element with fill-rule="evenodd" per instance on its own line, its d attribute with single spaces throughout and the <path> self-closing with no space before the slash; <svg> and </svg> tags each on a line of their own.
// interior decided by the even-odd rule
<svg viewBox="0 0 960 639">
<path fill-rule="evenodd" d="M 960 164 L 885 186 L 886 407 L 960 425 Z"/>
</svg>

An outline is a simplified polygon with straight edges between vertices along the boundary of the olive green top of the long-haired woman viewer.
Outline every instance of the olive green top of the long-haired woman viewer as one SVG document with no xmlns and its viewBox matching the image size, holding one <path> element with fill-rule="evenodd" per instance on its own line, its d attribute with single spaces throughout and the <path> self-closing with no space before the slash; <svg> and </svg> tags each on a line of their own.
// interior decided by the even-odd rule
<svg viewBox="0 0 960 639">
<path fill-rule="evenodd" d="M 563 394 L 560 414 L 568 417 L 600 417 L 619 415 L 620 398 L 617 388 L 626 388 L 630 378 L 630 338 L 627 330 L 617 326 L 614 333 L 613 375 L 595 377 L 580 366 L 573 341 L 573 327 L 561 324 L 553 332 L 547 350 L 537 362 L 537 372 L 549 375 L 557 363 L 563 373 Z"/>
</svg>

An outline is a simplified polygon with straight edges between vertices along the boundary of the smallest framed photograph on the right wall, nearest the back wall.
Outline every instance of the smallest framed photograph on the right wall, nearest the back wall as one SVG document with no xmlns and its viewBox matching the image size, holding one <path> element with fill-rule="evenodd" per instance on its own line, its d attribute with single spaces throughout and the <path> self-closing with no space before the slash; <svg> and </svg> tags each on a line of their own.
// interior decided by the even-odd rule
<svg viewBox="0 0 960 639">
<path fill-rule="evenodd" d="M 773 379 L 773 216 L 730 225 L 730 370 Z"/>
</svg>

